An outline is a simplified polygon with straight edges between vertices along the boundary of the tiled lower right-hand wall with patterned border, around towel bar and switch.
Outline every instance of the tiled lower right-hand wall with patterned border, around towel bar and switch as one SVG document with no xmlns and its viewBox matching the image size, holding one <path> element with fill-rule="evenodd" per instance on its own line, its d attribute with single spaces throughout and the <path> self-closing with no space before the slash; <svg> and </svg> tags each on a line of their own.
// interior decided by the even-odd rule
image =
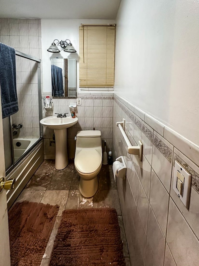
<svg viewBox="0 0 199 266">
<path fill-rule="evenodd" d="M 143 143 L 142 162 L 127 153 L 116 127 L 122 118 L 132 145 Z M 132 265 L 198 265 L 199 151 L 116 94 L 112 148 L 114 158 L 123 155 L 127 163 L 126 180 L 117 178 L 117 186 Z M 175 160 L 192 174 L 189 210 L 172 189 Z"/>
</svg>

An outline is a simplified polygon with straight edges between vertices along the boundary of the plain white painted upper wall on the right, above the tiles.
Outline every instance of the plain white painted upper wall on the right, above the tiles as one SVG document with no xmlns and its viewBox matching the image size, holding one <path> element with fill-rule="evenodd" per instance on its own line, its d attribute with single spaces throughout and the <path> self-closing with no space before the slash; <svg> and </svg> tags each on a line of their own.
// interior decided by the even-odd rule
<svg viewBox="0 0 199 266">
<path fill-rule="evenodd" d="M 199 144 L 199 2 L 122 0 L 115 90 Z"/>
</svg>

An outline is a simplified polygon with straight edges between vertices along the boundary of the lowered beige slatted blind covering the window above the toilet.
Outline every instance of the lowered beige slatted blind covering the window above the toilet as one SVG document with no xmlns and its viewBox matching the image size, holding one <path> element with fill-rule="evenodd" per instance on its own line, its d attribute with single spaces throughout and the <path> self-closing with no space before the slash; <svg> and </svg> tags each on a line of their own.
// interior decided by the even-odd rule
<svg viewBox="0 0 199 266">
<path fill-rule="evenodd" d="M 113 87 L 115 26 L 80 26 L 80 87 Z"/>
</svg>

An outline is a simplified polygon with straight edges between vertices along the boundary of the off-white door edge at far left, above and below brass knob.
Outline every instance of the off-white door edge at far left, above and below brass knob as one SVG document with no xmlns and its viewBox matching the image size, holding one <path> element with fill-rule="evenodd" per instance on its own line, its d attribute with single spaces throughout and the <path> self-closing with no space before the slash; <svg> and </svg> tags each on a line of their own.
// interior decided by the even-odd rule
<svg viewBox="0 0 199 266">
<path fill-rule="evenodd" d="M 6 172 L 4 160 L 2 120 L 3 119 L 0 94 L 0 178 L 5 178 Z M 8 230 L 7 197 L 5 189 L 2 189 L 2 191 L 0 192 L 0 266 L 10 266 L 10 241 Z"/>
</svg>

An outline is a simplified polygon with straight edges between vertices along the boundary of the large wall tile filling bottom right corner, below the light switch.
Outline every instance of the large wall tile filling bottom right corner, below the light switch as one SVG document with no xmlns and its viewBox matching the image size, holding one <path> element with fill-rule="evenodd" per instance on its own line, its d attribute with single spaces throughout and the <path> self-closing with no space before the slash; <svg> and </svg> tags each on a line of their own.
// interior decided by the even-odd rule
<svg viewBox="0 0 199 266">
<path fill-rule="evenodd" d="M 169 201 L 166 240 L 177 265 L 198 265 L 199 241 L 172 199 Z"/>
</svg>

